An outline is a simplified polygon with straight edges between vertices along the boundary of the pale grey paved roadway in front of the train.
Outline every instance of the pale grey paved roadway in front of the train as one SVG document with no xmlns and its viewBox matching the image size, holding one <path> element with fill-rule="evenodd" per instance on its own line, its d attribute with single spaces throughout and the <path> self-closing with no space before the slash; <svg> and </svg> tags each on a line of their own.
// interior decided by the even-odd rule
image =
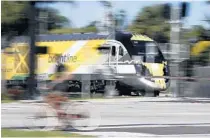
<svg viewBox="0 0 210 138">
<path fill-rule="evenodd" d="M 210 137 L 210 99 L 140 97 L 91 102 L 100 111 L 100 127 L 75 133 L 100 137 Z M 22 119 L 32 110 L 27 103 L 2 104 L 2 127 L 24 128 Z"/>
</svg>

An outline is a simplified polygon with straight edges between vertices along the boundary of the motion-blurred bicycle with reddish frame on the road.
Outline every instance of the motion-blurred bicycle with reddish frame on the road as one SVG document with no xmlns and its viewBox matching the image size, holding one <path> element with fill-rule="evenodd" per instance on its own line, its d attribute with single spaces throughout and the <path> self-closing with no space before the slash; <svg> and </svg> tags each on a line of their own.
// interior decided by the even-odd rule
<svg viewBox="0 0 210 138">
<path fill-rule="evenodd" d="M 32 105 L 33 113 L 27 116 L 24 122 L 30 129 L 63 130 L 71 126 L 77 131 L 90 131 L 100 125 L 100 113 L 88 101 L 63 102 L 60 107 L 62 112 L 46 103 Z"/>
</svg>

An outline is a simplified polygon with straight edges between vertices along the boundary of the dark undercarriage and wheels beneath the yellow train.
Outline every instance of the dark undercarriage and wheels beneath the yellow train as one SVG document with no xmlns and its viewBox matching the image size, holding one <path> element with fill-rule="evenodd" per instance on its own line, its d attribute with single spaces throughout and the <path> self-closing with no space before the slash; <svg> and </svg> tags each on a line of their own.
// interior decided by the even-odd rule
<svg viewBox="0 0 210 138">
<path fill-rule="evenodd" d="M 41 83 L 44 84 L 43 82 Z M 48 85 L 49 81 L 48 82 L 45 81 L 45 84 Z M 57 86 L 62 87 L 61 91 L 67 92 L 69 94 L 71 93 L 79 94 L 83 90 L 82 87 L 84 87 L 84 85 L 82 85 L 82 82 L 78 80 L 65 81 L 62 84 L 58 84 Z M 27 90 L 26 81 L 23 81 L 23 80 L 7 81 L 7 90 L 9 92 L 14 92 L 17 90 L 26 91 Z M 159 96 L 159 93 L 160 93 L 160 91 L 153 91 L 153 92 L 145 91 L 144 88 L 142 88 L 141 90 L 135 89 L 132 86 L 128 86 L 124 83 L 121 83 L 115 80 L 90 80 L 89 82 L 89 91 L 91 95 L 93 94 L 105 95 L 107 91 L 111 91 L 111 90 L 115 91 L 115 95 L 119 95 L 119 96 L 122 96 L 122 95 L 145 96 L 146 93 L 153 93 L 153 96 Z M 37 85 L 37 91 L 38 92 L 42 91 L 42 87 L 39 86 L 39 83 Z"/>
</svg>

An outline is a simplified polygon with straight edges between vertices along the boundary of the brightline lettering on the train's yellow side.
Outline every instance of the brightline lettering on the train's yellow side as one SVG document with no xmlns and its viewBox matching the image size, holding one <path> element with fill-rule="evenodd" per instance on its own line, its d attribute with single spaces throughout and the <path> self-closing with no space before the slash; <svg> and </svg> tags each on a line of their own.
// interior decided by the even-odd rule
<svg viewBox="0 0 210 138">
<path fill-rule="evenodd" d="M 50 54 L 49 58 L 48 58 L 49 63 L 55 63 L 55 62 L 65 63 L 67 61 L 68 62 L 76 62 L 77 56 L 71 56 L 70 54 L 66 54 L 66 55 L 62 55 L 62 56 Z"/>
</svg>

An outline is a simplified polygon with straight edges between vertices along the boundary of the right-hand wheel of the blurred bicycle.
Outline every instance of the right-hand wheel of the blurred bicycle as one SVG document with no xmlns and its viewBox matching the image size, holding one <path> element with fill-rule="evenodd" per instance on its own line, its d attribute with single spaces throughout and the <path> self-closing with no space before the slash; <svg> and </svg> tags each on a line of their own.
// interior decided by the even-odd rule
<svg viewBox="0 0 210 138">
<path fill-rule="evenodd" d="M 71 102 L 66 108 L 67 121 L 79 131 L 95 130 L 99 127 L 101 117 L 96 107 L 89 102 Z"/>
</svg>

